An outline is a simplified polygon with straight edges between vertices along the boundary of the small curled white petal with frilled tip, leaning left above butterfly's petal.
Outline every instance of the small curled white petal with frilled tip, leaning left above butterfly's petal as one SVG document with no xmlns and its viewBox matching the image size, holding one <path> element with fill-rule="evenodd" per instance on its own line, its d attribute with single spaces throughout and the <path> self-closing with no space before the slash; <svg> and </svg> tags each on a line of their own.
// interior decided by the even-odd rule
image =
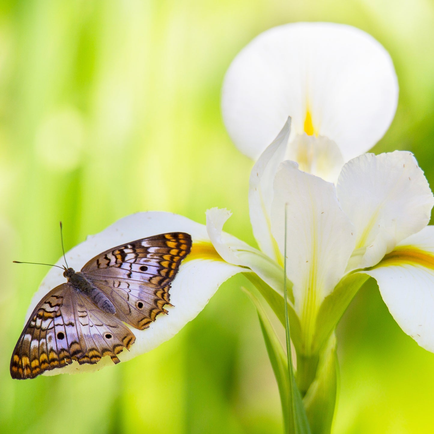
<svg viewBox="0 0 434 434">
<path fill-rule="evenodd" d="M 270 256 L 223 232 L 223 225 L 231 214 L 226 209 L 207 210 L 207 231 L 214 248 L 226 262 L 246 267 L 246 272 L 252 270 L 274 290 L 283 294 L 282 266 Z"/>
</svg>

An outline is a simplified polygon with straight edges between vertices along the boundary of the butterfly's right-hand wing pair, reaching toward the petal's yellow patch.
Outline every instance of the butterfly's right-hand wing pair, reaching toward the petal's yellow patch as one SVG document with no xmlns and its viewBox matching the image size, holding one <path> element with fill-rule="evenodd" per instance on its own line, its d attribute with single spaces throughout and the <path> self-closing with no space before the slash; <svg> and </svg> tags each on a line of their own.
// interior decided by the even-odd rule
<svg viewBox="0 0 434 434">
<path fill-rule="evenodd" d="M 119 319 L 143 330 L 167 313 L 170 283 L 190 251 L 188 233 L 163 233 L 107 250 L 82 273 L 109 297 Z"/>
</svg>

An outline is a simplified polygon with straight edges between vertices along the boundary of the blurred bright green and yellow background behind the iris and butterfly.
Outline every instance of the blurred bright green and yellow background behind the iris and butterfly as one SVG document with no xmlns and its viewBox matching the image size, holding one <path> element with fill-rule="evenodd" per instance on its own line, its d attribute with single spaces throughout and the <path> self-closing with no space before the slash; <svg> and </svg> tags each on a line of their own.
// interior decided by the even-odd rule
<svg viewBox="0 0 434 434">
<path fill-rule="evenodd" d="M 254 243 L 252 162 L 225 132 L 220 87 L 250 39 L 300 20 L 352 24 L 388 49 L 400 101 L 375 151 L 413 151 L 434 185 L 429 0 L 0 2 L 0 431 L 281 432 L 242 277 L 151 353 L 95 374 L 13 381 L 10 355 L 47 270 L 11 261 L 56 261 L 59 220 L 69 249 L 139 210 L 204 223 L 207 208 L 227 207 L 226 230 Z M 334 434 L 432 432 L 434 355 L 401 332 L 375 284 L 338 339 Z"/>
</svg>

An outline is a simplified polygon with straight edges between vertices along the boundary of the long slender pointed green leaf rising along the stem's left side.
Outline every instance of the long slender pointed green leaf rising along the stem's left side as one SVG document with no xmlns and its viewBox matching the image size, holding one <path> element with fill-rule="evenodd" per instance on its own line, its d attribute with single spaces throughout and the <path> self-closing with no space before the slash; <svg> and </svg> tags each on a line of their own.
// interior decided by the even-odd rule
<svg viewBox="0 0 434 434">
<path fill-rule="evenodd" d="M 310 434 L 306 411 L 295 383 L 292 363 L 290 362 L 288 367 L 288 358 L 260 301 L 252 293 L 245 291 L 250 296 L 258 312 L 268 357 L 279 388 L 285 432 L 288 434 Z"/>
</svg>

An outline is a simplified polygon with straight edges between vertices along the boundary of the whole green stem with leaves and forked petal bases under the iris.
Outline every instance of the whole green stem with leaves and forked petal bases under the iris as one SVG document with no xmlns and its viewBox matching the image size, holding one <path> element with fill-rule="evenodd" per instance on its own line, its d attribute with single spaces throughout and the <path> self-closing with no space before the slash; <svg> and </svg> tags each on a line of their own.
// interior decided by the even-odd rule
<svg viewBox="0 0 434 434">
<path fill-rule="evenodd" d="M 260 303 L 264 303 L 264 306 L 265 303 L 268 304 L 283 327 L 289 330 L 296 350 L 297 366 L 293 370 L 291 364 L 285 363 L 288 357 L 284 354 L 284 349 L 278 349 L 279 339 L 272 337 L 274 332 L 268 327 L 265 316 L 260 313 L 263 311 L 259 309 L 267 351 L 279 384 L 286 432 L 329 434 L 338 382 L 334 330 L 352 298 L 369 276 L 356 271 L 342 278 L 321 306 L 311 312 L 309 324 L 306 324 L 300 321 L 293 303 L 289 300 L 285 303 L 285 291 L 279 293 L 256 273 L 243 274 L 262 295 Z M 259 299 L 255 300 L 257 304 Z"/>
</svg>

